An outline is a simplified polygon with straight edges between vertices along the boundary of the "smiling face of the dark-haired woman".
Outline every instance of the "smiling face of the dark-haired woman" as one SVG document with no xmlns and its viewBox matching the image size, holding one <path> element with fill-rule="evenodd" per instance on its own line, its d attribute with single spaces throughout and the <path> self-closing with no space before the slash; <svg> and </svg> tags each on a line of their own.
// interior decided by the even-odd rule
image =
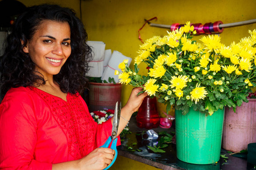
<svg viewBox="0 0 256 170">
<path fill-rule="evenodd" d="M 71 32 L 67 22 L 43 21 L 23 48 L 44 78 L 56 75 L 71 54 Z"/>
</svg>

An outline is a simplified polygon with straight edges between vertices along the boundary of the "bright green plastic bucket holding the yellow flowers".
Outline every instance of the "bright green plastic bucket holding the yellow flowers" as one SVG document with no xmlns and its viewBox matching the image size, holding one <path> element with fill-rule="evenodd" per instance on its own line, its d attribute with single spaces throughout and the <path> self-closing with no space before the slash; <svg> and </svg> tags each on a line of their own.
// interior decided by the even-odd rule
<svg viewBox="0 0 256 170">
<path fill-rule="evenodd" d="M 212 116 L 194 111 L 175 111 L 177 158 L 192 164 L 212 164 L 220 160 L 224 109 Z"/>
</svg>

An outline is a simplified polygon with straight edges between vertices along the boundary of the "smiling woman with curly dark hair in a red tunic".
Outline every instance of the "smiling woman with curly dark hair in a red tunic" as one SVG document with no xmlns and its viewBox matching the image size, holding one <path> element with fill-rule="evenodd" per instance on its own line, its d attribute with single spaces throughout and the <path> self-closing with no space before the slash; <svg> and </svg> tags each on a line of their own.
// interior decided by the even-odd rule
<svg viewBox="0 0 256 170">
<path fill-rule="evenodd" d="M 90 48 L 73 10 L 29 7 L 15 21 L 1 57 L 0 168 L 104 169 L 114 151 L 98 148 L 112 121 L 97 125 L 79 95 L 88 80 Z M 118 135 L 146 94 L 134 88 Z"/>
</svg>

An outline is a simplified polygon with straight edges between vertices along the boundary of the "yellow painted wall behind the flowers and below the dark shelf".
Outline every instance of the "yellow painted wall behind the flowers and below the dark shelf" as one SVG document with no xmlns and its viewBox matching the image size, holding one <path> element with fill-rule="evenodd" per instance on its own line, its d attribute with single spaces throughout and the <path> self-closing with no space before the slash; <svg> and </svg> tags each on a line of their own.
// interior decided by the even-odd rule
<svg viewBox="0 0 256 170">
<path fill-rule="evenodd" d="M 79 0 L 20 0 L 26 6 L 54 2 L 68 6 L 80 15 Z M 225 23 L 241 22 L 256 18 L 255 0 L 217 0 L 217 1 L 174 1 L 174 0 L 82 0 L 82 22 L 88 32 L 88 40 L 103 41 L 106 49 L 118 50 L 127 57 L 135 58 L 139 45 L 138 29 L 144 24 L 144 19 L 157 17 L 152 23 L 171 25 L 173 23 L 209 23 L 221 20 Z M 220 34 L 221 42 L 230 45 L 242 37 L 249 36 L 248 30 L 255 29 L 256 23 L 237 27 L 224 28 Z M 146 24 L 140 31 L 143 40 L 152 36 L 165 36 L 167 28 L 150 27 Z M 202 36 L 195 36 L 199 40 Z M 133 68 L 134 61 L 131 62 Z M 146 74 L 146 65 L 139 65 L 140 73 Z M 129 99 L 133 87 L 122 88 L 122 104 Z M 162 107 L 161 107 L 162 108 Z M 164 108 L 163 108 L 164 109 Z M 118 157 L 113 168 L 118 169 L 155 169 L 127 158 Z"/>
</svg>

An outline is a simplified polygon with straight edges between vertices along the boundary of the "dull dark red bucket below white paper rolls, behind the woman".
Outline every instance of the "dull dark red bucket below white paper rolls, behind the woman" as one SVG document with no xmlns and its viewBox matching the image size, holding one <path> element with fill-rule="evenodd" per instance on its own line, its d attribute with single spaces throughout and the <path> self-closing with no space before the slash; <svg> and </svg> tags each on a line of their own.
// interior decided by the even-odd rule
<svg viewBox="0 0 256 170">
<path fill-rule="evenodd" d="M 115 103 L 121 102 L 122 84 L 89 83 L 89 111 L 115 109 Z"/>
</svg>

